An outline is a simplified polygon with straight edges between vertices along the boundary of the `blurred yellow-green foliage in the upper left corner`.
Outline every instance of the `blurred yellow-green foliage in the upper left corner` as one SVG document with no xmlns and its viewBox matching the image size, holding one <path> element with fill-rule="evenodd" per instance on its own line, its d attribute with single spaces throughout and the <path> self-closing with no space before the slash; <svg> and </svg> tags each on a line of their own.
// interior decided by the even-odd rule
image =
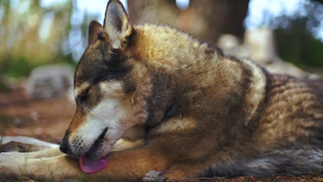
<svg viewBox="0 0 323 182">
<path fill-rule="evenodd" d="M 37 65 L 61 61 L 57 55 L 70 30 L 72 1 L 41 7 L 39 0 L 1 0 L 1 12 L 0 74 L 26 76 Z"/>
</svg>

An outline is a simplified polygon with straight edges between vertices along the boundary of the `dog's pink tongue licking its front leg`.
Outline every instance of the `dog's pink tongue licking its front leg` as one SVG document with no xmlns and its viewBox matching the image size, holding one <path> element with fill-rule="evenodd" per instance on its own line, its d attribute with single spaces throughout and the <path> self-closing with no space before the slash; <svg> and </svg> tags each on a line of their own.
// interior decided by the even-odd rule
<svg viewBox="0 0 323 182">
<path fill-rule="evenodd" d="M 106 156 L 102 156 L 97 160 L 87 159 L 85 155 L 79 157 L 79 165 L 81 166 L 81 170 L 85 173 L 93 173 L 103 170 L 108 166 L 108 158 Z"/>
</svg>

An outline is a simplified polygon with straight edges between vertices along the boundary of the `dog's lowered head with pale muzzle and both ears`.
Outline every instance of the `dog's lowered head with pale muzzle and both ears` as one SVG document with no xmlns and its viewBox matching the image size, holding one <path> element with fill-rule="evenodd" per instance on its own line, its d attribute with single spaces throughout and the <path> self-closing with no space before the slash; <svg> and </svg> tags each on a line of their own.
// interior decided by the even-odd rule
<svg viewBox="0 0 323 182">
<path fill-rule="evenodd" d="M 108 154 L 124 132 L 144 123 L 147 115 L 144 88 L 149 85 L 127 55 L 134 28 L 117 0 L 109 1 L 105 15 L 104 26 L 90 23 L 89 45 L 75 72 L 77 111 L 60 148 L 93 159 Z"/>
</svg>

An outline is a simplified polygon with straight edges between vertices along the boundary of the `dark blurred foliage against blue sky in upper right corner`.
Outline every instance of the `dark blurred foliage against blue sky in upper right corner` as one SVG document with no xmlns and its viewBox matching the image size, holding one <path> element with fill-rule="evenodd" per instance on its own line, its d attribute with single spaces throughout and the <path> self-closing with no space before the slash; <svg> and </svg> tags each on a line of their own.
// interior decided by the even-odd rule
<svg viewBox="0 0 323 182">
<path fill-rule="evenodd" d="M 305 15 L 295 12 L 293 16 L 283 14 L 271 18 L 275 29 L 277 52 L 282 59 L 300 66 L 323 68 L 323 42 L 313 34 L 322 31 L 323 5 L 319 1 L 308 1 L 300 6 Z"/>
</svg>

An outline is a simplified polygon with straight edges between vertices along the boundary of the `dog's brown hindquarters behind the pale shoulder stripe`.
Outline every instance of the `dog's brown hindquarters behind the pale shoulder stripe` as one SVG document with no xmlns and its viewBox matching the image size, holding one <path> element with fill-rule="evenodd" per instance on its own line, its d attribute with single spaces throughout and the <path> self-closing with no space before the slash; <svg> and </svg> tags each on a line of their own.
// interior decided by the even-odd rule
<svg viewBox="0 0 323 182">
<path fill-rule="evenodd" d="M 317 83 L 267 74 L 264 108 L 252 137 L 260 155 L 246 163 L 243 174 L 323 170 L 323 95 Z"/>
</svg>

